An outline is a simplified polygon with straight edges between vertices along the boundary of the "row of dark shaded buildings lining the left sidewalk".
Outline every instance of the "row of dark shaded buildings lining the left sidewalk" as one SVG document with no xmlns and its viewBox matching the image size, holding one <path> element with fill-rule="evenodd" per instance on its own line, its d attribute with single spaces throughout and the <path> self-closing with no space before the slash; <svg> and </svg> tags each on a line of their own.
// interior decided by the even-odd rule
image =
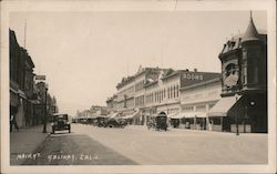
<svg viewBox="0 0 277 174">
<path fill-rule="evenodd" d="M 41 124 L 44 114 L 44 85 L 35 83 L 32 58 L 19 45 L 12 30 L 9 30 L 9 41 L 10 115 L 16 117 L 19 127 Z"/>
</svg>

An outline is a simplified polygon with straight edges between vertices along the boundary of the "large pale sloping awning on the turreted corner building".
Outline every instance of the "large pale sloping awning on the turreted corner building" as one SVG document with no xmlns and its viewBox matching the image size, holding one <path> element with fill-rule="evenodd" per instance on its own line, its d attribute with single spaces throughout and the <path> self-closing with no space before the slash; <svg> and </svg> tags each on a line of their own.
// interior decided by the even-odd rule
<svg viewBox="0 0 277 174">
<path fill-rule="evenodd" d="M 208 116 L 227 116 L 232 106 L 242 98 L 242 95 L 222 98 L 207 113 Z"/>
</svg>

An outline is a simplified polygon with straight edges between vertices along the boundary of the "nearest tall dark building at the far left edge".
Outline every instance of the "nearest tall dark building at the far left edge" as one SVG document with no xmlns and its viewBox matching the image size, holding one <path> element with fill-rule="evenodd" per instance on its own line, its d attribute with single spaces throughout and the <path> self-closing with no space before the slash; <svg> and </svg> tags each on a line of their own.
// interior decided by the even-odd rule
<svg viewBox="0 0 277 174">
<path fill-rule="evenodd" d="M 17 41 L 16 32 L 10 30 L 10 114 L 16 116 L 19 127 L 29 126 L 32 117 L 32 59 Z"/>
</svg>

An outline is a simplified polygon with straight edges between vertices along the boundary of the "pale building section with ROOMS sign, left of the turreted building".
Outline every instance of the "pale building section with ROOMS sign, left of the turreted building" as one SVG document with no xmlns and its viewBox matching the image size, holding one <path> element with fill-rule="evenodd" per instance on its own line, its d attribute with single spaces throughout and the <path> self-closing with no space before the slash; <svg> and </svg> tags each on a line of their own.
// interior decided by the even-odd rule
<svg viewBox="0 0 277 174">
<path fill-rule="evenodd" d="M 197 76 L 196 79 L 187 76 Z M 192 81 L 191 84 L 182 83 L 179 126 L 193 130 L 216 130 L 211 124 L 207 112 L 219 101 L 222 92 L 220 73 L 187 73 L 183 81 Z"/>
</svg>

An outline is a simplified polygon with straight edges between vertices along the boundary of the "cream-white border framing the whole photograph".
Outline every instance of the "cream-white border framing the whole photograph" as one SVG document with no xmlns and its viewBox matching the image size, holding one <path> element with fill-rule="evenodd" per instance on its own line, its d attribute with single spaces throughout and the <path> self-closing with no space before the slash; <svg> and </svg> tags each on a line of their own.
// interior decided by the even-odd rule
<svg viewBox="0 0 277 174">
<path fill-rule="evenodd" d="M 1 172 L 2 173 L 275 173 L 276 2 L 243 1 L 1 1 Z M 13 11 L 266 10 L 268 23 L 268 165 L 9 166 L 9 12 Z M 270 47 L 269 47 L 270 45 Z M 61 170 L 62 167 L 62 170 Z"/>
</svg>

